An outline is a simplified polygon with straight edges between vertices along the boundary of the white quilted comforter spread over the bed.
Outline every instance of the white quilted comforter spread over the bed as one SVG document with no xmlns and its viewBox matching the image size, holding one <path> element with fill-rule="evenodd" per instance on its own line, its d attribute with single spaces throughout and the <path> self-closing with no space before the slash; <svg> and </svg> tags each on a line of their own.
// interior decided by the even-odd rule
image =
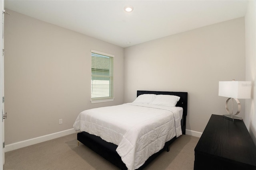
<svg viewBox="0 0 256 170">
<path fill-rule="evenodd" d="M 182 135 L 180 108 L 128 103 L 82 111 L 73 127 L 118 145 L 129 170 L 139 168 L 166 141 Z"/>
</svg>

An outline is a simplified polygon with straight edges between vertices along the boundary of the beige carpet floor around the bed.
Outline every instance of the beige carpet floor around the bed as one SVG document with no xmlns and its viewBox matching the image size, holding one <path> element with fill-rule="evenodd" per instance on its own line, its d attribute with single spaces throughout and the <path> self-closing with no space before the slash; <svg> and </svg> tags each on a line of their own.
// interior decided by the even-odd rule
<svg viewBox="0 0 256 170">
<path fill-rule="evenodd" d="M 193 170 L 198 137 L 182 135 L 145 170 Z M 77 145 L 76 133 L 5 153 L 4 170 L 118 170 L 116 166 Z"/>
</svg>

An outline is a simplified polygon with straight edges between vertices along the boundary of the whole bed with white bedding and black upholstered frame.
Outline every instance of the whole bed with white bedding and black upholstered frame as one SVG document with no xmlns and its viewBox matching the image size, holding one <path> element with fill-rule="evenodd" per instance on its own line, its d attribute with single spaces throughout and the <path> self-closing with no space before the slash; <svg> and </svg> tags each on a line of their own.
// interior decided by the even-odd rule
<svg viewBox="0 0 256 170">
<path fill-rule="evenodd" d="M 153 102 L 136 102 L 141 102 L 143 96 L 147 96 L 143 101 L 148 102 L 150 96 Z M 171 96 L 178 98 L 173 103 L 176 107 L 156 106 L 157 98 Z M 185 134 L 187 101 L 187 92 L 138 90 L 132 103 L 81 112 L 74 123 L 74 129 L 82 131 L 77 140 L 120 169 L 142 169 Z"/>
</svg>

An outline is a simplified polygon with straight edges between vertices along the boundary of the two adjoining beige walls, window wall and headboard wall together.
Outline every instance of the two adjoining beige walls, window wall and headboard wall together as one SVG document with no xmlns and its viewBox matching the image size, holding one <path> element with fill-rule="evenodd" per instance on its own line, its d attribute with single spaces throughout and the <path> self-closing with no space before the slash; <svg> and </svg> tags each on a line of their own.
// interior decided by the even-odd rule
<svg viewBox="0 0 256 170">
<path fill-rule="evenodd" d="M 188 92 L 186 129 L 202 132 L 211 114 L 226 114 L 218 81 L 245 80 L 244 18 L 123 49 L 7 12 L 6 145 L 71 129 L 80 111 L 132 102 L 136 90 Z M 90 103 L 91 49 L 115 55 L 114 102 Z"/>
</svg>

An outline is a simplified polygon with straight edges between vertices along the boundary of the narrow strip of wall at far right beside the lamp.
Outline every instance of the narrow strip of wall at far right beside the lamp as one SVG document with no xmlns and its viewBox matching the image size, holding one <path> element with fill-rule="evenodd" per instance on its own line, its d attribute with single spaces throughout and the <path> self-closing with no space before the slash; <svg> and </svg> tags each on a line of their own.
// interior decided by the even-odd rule
<svg viewBox="0 0 256 170">
<path fill-rule="evenodd" d="M 252 99 L 246 100 L 244 123 L 256 144 L 256 1 L 249 1 L 245 16 L 246 80 L 252 81 Z"/>
</svg>

